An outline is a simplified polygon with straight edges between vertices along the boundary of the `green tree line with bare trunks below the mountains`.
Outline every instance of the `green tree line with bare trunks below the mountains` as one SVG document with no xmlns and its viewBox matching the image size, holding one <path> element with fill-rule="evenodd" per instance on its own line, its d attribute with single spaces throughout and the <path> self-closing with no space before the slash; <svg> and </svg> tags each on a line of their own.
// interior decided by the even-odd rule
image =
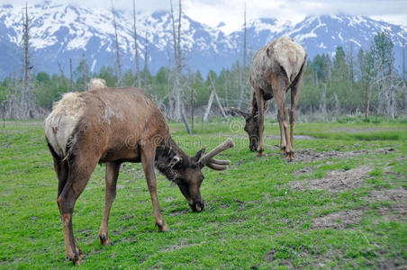
<svg viewBox="0 0 407 270">
<path fill-rule="evenodd" d="M 225 116 L 223 107 L 248 108 L 251 93 L 249 85 L 246 31 L 241 60 L 225 67 L 216 74 L 210 70 L 203 76 L 199 70 L 184 66 L 181 50 L 181 1 L 178 16 L 171 4 L 174 41 L 174 67 L 161 67 L 157 74 L 149 72 L 148 63 L 140 69 L 137 49 L 137 27 L 134 14 L 135 71 L 122 72 L 120 49 L 115 34 L 117 61 L 113 67 L 102 67 L 90 73 L 85 52 L 79 65 L 73 69 L 70 63 L 69 76 L 59 67 L 59 74 L 37 72 L 32 74 L 29 55 L 29 20 L 27 6 L 23 20 L 23 75 L 10 74 L 0 82 L 0 108 L 4 118 L 27 119 L 44 117 L 62 94 L 71 91 L 86 91 L 91 77 L 100 77 L 110 87 L 135 85 L 142 88 L 165 112 L 168 119 L 179 121 L 181 114 L 202 115 L 206 121 L 211 115 Z M 246 8 L 245 8 L 246 10 Z M 113 25 L 115 26 L 112 6 Z M 246 25 L 246 12 L 245 12 Z M 246 27 L 244 27 L 246 30 Z M 148 35 L 148 33 L 146 33 Z M 350 43 L 351 44 L 351 43 Z M 148 45 L 148 44 L 146 44 Z M 146 46 L 148 48 L 148 46 Z M 147 52 L 145 58 L 147 59 Z M 404 46 L 402 70 L 394 67 L 393 42 L 384 33 L 377 33 L 369 49 L 356 53 L 350 46 L 348 51 L 338 47 L 333 55 L 322 54 L 309 58 L 303 76 L 303 89 L 297 111 L 301 114 L 318 115 L 321 121 L 338 118 L 341 114 L 381 114 L 389 118 L 407 112 L 405 85 Z M 212 105 L 216 101 L 216 105 Z M 288 101 L 287 101 L 288 102 Z M 269 112 L 273 112 L 273 105 Z"/>
</svg>

